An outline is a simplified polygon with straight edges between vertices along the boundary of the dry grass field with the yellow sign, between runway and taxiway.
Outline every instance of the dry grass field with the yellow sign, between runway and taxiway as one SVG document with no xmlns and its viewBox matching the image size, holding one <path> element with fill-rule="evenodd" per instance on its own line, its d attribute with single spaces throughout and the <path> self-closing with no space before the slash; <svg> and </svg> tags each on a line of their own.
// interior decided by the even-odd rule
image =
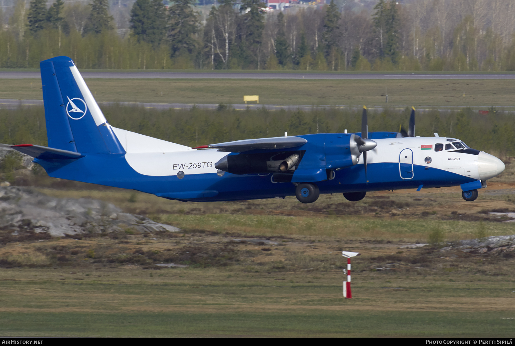
<svg viewBox="0 0 515 346">
<path fill-rule="evenodd" d="M 512 80 L 88 79 L 98 101 L 277 105 L 515 106 Z M 464 96 L 465 95 L 465 96 Z M 3 79 L 0 98 L 42 99 L 41 80 Z"/>
</svg>

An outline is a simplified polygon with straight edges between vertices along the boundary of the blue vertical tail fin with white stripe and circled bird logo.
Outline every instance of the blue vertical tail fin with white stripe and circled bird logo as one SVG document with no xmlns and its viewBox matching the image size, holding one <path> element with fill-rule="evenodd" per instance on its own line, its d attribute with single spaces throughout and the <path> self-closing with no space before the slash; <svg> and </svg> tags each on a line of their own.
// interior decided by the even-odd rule
<svg viewBox="0 0 515 346">
<path fill-rule="evenodd" d="M 125 153 L 72 59 L 40 62 L 48 146 L 81 153 Z"/>
</svg>

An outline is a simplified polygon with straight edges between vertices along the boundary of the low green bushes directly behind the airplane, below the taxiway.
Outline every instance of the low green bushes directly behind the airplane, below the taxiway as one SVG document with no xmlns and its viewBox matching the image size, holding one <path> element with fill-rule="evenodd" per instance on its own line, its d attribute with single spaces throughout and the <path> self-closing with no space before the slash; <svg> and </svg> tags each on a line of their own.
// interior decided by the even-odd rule
<svg viewBox="0 0 515 346">
<path fill-rule="evenodd" d="M 131 106 L 102 106 L 109 123 L 117 128 L 142 133 L 191 147 L 228 141 L 310 133 L 361 131 L 361 110 L 316 108 L 311 111 L 234 110 L 220 105 L 218 110 L 156 110 Z M 398 132 L 408 127 L 410 108 L 369 110 L 370 131 Z M 417 111 L 418 136 L 456 137 L 472 148 L 500 157 L 515 156 L 515 117 L 513 113 L 491 108 L 480 115 L 469 108 L 460 111 Z M 0 109 L 0 143 L 31 143 L 47 146 L 43 107 Z"/>
</svg>

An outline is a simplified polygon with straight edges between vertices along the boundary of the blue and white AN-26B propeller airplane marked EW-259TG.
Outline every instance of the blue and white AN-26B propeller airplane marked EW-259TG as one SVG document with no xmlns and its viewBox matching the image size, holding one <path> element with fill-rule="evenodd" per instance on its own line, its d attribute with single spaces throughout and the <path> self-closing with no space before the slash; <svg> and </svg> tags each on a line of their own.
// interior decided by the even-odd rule
<svg viewBox="0 0 515 346">
<path fill-rule="evenodd" d="M 50 177 L 134 189 L 187 201 L 296 196 L 315 202 L 342 193 L 457 186 L 466 201 L 503 172 L 503 162 L 455 137 L 369 132 L 317 133 L 202 145 L 171 143 L 111 126 L 71 58 L 40 63 L 48 147 L 11 146 Z"/>
</svg>

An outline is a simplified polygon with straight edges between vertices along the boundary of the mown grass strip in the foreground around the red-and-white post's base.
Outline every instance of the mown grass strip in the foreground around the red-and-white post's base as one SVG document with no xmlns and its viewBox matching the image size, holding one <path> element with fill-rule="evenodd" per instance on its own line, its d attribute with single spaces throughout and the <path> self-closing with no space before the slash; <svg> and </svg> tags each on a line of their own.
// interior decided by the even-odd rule
<svg viewBox="0 0 515 346">
<path fill-rule="evenodd" d="M 4 271 L 0 334 L 510 337 L 514 323 L 510 318 L 515 317 L 508 303 L 515 286 L 499 278 L 470 282 L 468 276 L 450 274 L 406 279 L 396 273 L 356 273 L 354 298 L 344 300 L 341 273 L 335 272 L 91 269 L 89 273 L 93 275 L 71 275 L 64 268 Z M 58 281 L 61 276 L 65 281 Z M 85 280 L 74 281 L 71 276 Z"/>
</svg>

